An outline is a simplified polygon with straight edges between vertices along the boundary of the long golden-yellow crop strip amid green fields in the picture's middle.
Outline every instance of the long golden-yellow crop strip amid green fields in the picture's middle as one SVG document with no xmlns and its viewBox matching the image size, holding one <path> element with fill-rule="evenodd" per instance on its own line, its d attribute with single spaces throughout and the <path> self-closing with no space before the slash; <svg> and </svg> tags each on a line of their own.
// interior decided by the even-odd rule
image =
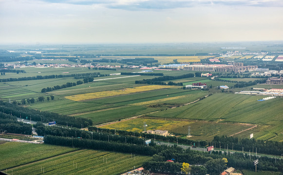
<svg viewBox="0 0 283 175">
<path fill-rule="evenodd" d="M 82 101 L 82 100 L 110 97 L 110 96 L 115 96 L 115 95 L 130 94 L 130 93 L 135 93 L 135 92 L 156 90 L 156 89 L 162 89 L 162 88 L 174 88 L 174 86 L 148 85 L 148 86 L 140 86 L 140 87 L 134 87 L 134 88 L 124 88 L 124 89 L 118 89 L 118 90 L 106 90 L 106 91 L 93 92 L 93 93 L 70 95 L 70 96 L 65 96 L 65 98 L 69 100 L 74 100 L 74 101 Z"/>
</svg>

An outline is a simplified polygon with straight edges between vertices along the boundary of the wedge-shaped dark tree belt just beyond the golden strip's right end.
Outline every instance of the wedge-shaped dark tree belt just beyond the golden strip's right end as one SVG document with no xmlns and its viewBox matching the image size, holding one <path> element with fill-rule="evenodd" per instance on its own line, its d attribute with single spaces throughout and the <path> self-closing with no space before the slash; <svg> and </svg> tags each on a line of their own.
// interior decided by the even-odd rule
<svg viewBox="0 0 283 175">
<path fill-rule="evenodd" d="M 176 80 L 176 79 L 183 79 L 183 78 L 190 78 L 194 77 L 193 73 L 188 73 L 184 75 L 179 75 L 179 76 L 161 76 L 157 78 L 152 78 L 152 79 L 143 79 L 143 80 L 136 80 L 135 84 L 151 84 L 151 85 L 174 85 L 174 86 L 183 86 L 183 83 L 173 83 L 169 82 L 166 84 L 163 81 L 170 81 L 170 80 Z"/>
</svg>

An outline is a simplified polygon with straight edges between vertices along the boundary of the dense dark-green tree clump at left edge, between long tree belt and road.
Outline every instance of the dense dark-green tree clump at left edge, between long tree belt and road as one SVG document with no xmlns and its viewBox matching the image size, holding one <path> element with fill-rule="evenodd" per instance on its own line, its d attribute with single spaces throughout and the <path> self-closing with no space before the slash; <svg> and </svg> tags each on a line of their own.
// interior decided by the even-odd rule
<svg viewBox="0 0 283 175">
<path fill-rule="evenodd" d="M 0 131 L 15 134 L 32 134 L 32 125 L 18 122 L 15 116 L 0 112 Z"/>
</svg>

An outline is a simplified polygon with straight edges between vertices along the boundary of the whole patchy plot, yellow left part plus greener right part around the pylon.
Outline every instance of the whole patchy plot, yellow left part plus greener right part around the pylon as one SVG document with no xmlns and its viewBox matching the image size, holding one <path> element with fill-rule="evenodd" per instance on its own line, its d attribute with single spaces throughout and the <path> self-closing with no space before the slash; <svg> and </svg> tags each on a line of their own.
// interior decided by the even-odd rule
<svg viewBox="0 0 283 175">
<path fill-rule="evenodd" d="M 169 132 L 184 135 L 188 134 L 188 127 L 190 126 L 190 134 L 192 135 L 192 137 L 189 138 L 190 140 L 212 140 L 214 136 L 230 136 L 254 126 L 253 124 L 246 123 L 206 122 L 188 119 L 148 117 L 107 124 L 101 126 L 101 128 L 141 132 L 144 130 L 144 124 L 147 124 L 147 130 L 168 130 Z M 247 136 L 246 132 L 245 135 Z"/>
</svg>

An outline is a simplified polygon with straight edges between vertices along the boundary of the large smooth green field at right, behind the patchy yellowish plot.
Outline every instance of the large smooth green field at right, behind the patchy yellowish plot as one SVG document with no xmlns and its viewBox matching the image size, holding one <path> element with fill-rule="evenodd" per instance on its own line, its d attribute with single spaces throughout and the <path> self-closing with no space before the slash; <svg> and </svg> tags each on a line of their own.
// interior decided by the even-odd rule
<svg viewBox="0 0 283 175">
<path fill-rule="evenodd" d="M 261 98 L 264 97 L 217 93 L 191 105 L 172 108 L 147 116 L 263 124 L 266 127 L 258 131 L 259 133 L 255 134 L 255 138 L 282 141 L 283 98 L 276 98 L 260 103 L 257 99 Z"/>
</svg>

